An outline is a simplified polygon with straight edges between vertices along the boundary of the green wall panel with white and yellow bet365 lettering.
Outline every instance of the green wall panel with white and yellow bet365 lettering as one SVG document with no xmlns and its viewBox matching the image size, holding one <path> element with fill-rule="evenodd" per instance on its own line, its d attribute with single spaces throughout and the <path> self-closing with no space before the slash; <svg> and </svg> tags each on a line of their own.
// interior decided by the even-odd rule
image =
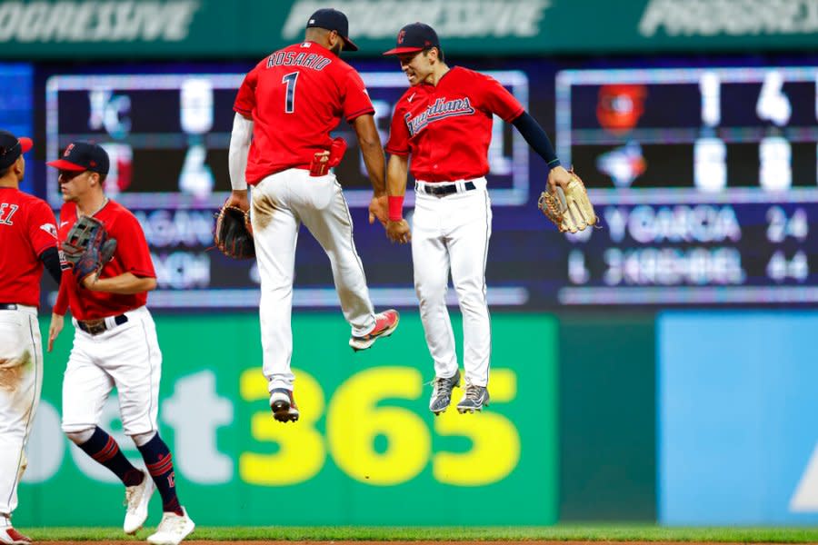
<svg viewBox="0 0 818 545">
<path fill-rule="evenodd" d="M 553 316 L 494 313 L 490 410 L 434 418 L 427 408 L 434 372 L 416 314 L 404 313 L 393 337 L 360 353 L 348 347 L 339 312 L 297 315 L 293 366 L 302 417 L 286 425 L 267 406 L 255 314 L 156 322 L 165 358 L 161 432 L 175 454 L 181 500 L 199 524 L 557 520 Z M 122 485 L 60 432 L 72 335 L 66 327 L 45 356 L 43 402 L 15 513 L 23 527 L 122 521 Z M 117 411 L 112 399 L 103 425 L 138 461 Z M 158 520 L 158 498 L 151 509 Z"/>
</svg>

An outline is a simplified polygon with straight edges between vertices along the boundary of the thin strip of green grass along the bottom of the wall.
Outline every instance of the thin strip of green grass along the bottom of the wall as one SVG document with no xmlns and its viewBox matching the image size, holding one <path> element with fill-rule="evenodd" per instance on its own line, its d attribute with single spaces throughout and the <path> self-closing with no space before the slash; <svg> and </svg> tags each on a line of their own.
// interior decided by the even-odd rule
<svg viewBox="0 0 818 545">
<path fill-rule="evenodd" d="M 40 528 L 34 540 L 135 540 L 119 528 Z M 144 540 L 150 530 L 140 530 Z M 555 540 L 818 542 L 818 528 L 662 528 L 655 525 L 559 524 L 547 527 L 224 527 L 196 528 L 190 540 Z"/>
</svg>

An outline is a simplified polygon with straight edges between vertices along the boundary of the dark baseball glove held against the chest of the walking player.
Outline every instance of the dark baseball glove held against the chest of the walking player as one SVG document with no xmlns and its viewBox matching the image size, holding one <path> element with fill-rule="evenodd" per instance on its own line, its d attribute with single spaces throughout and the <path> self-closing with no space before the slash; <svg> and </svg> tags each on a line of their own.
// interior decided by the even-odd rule
<svg viewBox="0 0 818 545">
<path fill-rule="evenodd" d="M 99 274 L 116 251 L 116 239 L 109 239 L 105 225 L 91 216 L 81 216 L 60 245 L 65 260 L 74 265 L 80 285 L 91 274 Z"/>
</svg>

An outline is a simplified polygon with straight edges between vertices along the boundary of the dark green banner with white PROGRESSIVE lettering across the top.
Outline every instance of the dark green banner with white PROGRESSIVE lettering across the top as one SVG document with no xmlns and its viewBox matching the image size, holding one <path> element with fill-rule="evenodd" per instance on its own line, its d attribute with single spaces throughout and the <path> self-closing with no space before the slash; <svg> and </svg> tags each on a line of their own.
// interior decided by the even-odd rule
<svg viewBox="0 0 818 545">
<path fill-rule="evenodd" d="M 330 5 L 361 54 L 381 54 L 414 21 L 457 54 L 818 47 L 815 0 L 3 0 L 0 58 L 261 56 Z"/>
</svg>

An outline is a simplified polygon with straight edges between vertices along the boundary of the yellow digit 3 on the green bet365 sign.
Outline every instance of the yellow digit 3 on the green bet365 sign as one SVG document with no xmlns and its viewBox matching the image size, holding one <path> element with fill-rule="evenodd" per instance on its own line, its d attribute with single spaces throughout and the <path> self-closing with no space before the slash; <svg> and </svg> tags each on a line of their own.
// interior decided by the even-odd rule
<svg viewBox="0 0 818 545">
<path fill-rule="evenodd" d="M 301 412 L 295 423 L 282 424 L 273 420 L 269 409 L 256 412 L 250 421 L 250 434 L 256 441 L 275 442 L 274 454 L 243 452 L 239 456 L 239 476 L 242 481 L 262 486 L 284 486 L 309 481 L 324 467 L 324 438 L 315 430 L 315 422 L 324 414 L 324 391 L 312 375 L 294 371 L 296 402 Z M 245 401 L 268 400 L 267 380 L 262 370 L 248 369 L 242 373 L 240 388 Z"/>
</svg>

